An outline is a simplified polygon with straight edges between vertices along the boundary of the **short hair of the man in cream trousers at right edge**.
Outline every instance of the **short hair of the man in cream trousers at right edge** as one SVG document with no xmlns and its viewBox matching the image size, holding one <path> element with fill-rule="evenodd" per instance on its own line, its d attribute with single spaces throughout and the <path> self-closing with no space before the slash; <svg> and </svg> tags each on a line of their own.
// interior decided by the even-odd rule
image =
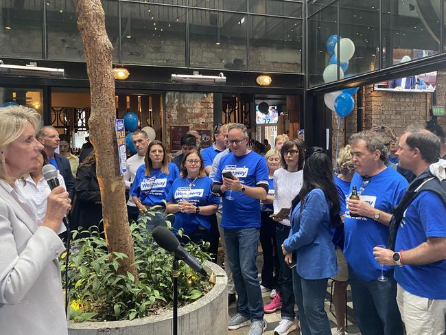
<svg viewBox="0 0 446 335">
<path fill-rule="evenodd" d="M 411 150 L 418 148 L 426 163 L 436 163 L 440 157 L 440 139 L 437 135 L 421 126 L 408 126 L 406 144 Z"/>
</svg>

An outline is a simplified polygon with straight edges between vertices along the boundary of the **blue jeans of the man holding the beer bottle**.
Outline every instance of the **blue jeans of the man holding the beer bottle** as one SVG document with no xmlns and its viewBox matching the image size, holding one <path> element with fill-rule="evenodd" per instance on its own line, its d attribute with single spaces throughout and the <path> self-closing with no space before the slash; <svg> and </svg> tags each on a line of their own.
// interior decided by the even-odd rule
<svg viewBox="0 0 446 335">
<path fill-rule="evenodd" d="M 362 335 L 402 335 L 403 323 L 397 305 L 397 283 L 393 270 L 388 281 L 366 281 L 349 266 L 355 319 Z"/>
</svg>

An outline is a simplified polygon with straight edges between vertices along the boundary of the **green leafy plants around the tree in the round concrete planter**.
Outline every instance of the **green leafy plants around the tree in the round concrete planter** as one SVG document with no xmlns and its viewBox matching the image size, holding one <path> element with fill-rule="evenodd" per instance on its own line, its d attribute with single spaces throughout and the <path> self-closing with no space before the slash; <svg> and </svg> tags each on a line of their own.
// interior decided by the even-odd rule
<svg viewBox="0 0 446 335">
<path fill-rule="evenodd" d="M 150 220 L 150 218 L 149 218 Z M 118 274 L 123 253 L 108 253 L 106 241 L 96 227 L 73 231 L 72 255 L 69 259 L 71 284 L 70 319 L 75 321 L 132 320 L 157 314 L 172 306 L 173 255 L 157 246 L 144 220 L 130 225 L 134 241 L 135 265 L 139 277 Z M 76 238 L 81 233 L 82 238 Z M 189 242 L 185 249 L 200 262 L 211 259 L 203 249 L 209 243 Z M 62 264 L 62 273 L 65 262 Z M 184 262 L 178 269 L 178 305 L 185 305 L 209 291 L 211 284 L 203 281 Z"/>
</svg>

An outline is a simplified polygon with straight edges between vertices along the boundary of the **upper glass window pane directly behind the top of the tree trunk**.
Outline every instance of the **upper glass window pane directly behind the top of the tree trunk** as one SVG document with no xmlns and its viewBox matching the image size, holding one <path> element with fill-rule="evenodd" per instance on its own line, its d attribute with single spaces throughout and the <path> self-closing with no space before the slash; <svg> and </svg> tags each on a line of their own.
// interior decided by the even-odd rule
<svg viewBox="0 0 446 335">
<path fill-rule="evenodd" d="M 108 38 L 115 48 L 113 58 L 118 55 L 117 1 L 103 0 L 106 14 Z M 85 60 L 84 45 L 77 25 L 73 1 L 47 1 L 48 58 L 56 60 Z"/>
</svg>

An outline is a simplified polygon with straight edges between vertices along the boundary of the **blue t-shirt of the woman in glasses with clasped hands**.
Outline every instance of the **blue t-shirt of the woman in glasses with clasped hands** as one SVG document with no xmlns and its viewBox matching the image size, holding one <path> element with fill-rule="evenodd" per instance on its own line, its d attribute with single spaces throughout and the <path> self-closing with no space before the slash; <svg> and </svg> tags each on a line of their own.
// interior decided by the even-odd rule
<svg viewBox="0 0 446 335">
<path fill-rule="evenodd" d="M 190 188 L 189 188 L 190 187 Z M 189 203 L 194 206 L 218 205 L 220 198 L 212 194 L 212 180 L 208 176 L 197 178 L 196 181 L 189 178 L 176 178 L 169 194 L 167 201 L 169 203 L 178 203 L 183 200 L 183 196 L 187 194 Z M 211 231 L 211 216 L 198 213 L 176 213 L 175 229 L 184 229 L 185 234 L 193 233 L 198 225 Z"/>
</svg>

